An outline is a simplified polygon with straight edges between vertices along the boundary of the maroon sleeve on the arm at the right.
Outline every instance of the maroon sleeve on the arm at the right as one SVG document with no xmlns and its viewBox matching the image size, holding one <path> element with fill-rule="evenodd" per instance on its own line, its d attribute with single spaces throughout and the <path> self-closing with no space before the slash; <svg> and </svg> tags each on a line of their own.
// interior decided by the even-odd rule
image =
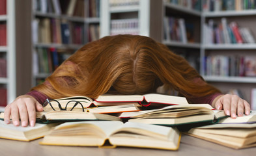
<svg viewBox="0 0 256 156">
<path fill-rule="evenodd" d="M 203 79 L 201 79 L 200 77 L 197 77 L 195 79 L 193 79 L 193 82 L 194 83 L 197 83 L 199 85 L 205 85 L 206 82 L 203 81 Z M 214 101 L 214 99 L 217 97 L 217 96 L 220 96 L 222 95 L 220 92 L 216 92 L 214 94 L 210 94 L 208 96 L 203 96 L 203 97 L 196 97 L 196 98 L 187 98 L 188 101 L 192 102 L 192 103 L 208 103 L 210 105 L 212 105 L 212 101 Z"/>
</svg>

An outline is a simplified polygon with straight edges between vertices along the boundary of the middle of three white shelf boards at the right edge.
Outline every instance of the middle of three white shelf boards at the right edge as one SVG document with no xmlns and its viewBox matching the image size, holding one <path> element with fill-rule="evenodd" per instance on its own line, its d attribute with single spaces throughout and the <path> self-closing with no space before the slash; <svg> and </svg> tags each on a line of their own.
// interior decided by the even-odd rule
<svg viewBox="0 0 256 156">
<path fill-rule="evenodd" d="M 256 49 L 256 44 L 209 44 L 203 45 L 204 49 Z"/>
</svg>

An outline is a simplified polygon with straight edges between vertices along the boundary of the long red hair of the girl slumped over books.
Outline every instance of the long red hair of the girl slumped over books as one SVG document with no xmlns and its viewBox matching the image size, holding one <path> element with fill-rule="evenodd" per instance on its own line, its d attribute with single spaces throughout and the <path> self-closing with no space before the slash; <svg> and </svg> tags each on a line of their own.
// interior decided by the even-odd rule
<svg viewBox="0 0 256 156">
<path fill-rule="evenodd" d="M 81 47 L 65 60 L 42 85 L 35 86 L 50 98 L 83 95 L 90 98 L 107 92 L 147 94 L 165 85 L 185 97 L 202 97 L 220 90 L 205 83 L 182 57 L 146 36 L 106 36 Z M 49 85 L 50 84 L 50 85 Z"/>
</svg>

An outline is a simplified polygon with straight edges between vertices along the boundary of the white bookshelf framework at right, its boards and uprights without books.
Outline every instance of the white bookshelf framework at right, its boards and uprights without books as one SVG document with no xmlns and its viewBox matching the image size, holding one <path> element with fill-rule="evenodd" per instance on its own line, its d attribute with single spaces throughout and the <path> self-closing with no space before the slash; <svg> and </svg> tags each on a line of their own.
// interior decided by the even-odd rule
<svg viewBox="0 0 256 156">
<path fill-rule="evenodd" d="M 171 3 L 165 3 L 163 1 L 163 16 L 165 16 L 165 8 L 171 9 L 173 12 L 181 12 L 180 14 L 187 14 L 188 16 L 195 16 L 199 17 L 199 27 L 201 27 L 200 31 L 200 42 L 199 43 L 187 43 L 183 44 L 180 42 L 174 42 L 174 41 L 167 41 L 162 40 L 162 43 L 169 46 L 169 47 L 179 47 L 179 48 L 185 48 L 185 49 L 199 49 L 200 53 L 200 74 L 203 76 L 203 78 L 208 81 L 208 83 L 211 83 L 212 85 L 216 85 L 220 90 L 227 91 L 228 88 L 240 88 L 244 94 L 246 94 L 246 99 L 249 101 L 250 98 L 250 90 L 251 88 L 256 88 L 256 77 L 223 77 L 223 76 L 211 76 L 211 75 L 205 75 L 205 57 L 210 53 L 214 55 L 220 55 L 222 53 L 225 53 L 224 55 L 256 55 L 256 44 L 205 44 L 204 43 L 204 36 L 205 32 L 203 31 L 203 25 L 205 22 L 207 22 L 208 19 L 216 19 L 217 21 L 220 21 L 221 18 L 227 18 L 231 21 L 236 21 L 238 19 L 238 26 L 239 22 L 241 25 L 244 25 L 244 27 L 249 26 L 249 29 L 254 33 L 254 37 L 256 37 L 256 29 L 255 26 L 252 26 L 252 21 L 255 21 L 256 18 L 256 10 L 228 10 L 228 11 L 215 11 L 215 12 L 199 12 L 197 10 L 192 10 L 190 8 L 186 8 L 184 6 L 179 6 Z M 247 19 L 248 23 L 244 23 L 243 20 L 245 18 L 251 18 L 251 21 Z M 256 25 L 256 22 L 255 22 Z M 164 34 L 164 33 L 163 33 Z M 164 36 L 164 35 L 162 35 Z M 164 38 L 164 37 L 162 37 Z"/>
</svg>

